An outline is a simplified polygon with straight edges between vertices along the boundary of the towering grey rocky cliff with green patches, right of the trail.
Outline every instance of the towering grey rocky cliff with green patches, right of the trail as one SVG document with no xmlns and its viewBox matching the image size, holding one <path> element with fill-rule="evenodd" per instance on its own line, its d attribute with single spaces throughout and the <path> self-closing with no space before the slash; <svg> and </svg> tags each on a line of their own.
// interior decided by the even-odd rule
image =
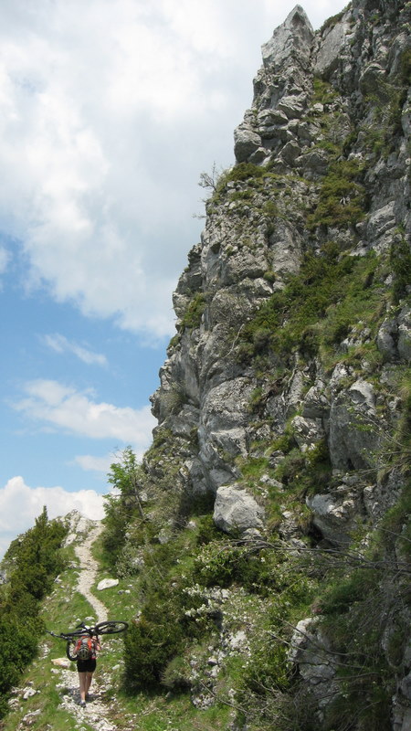
<svg viewBox="0 0 411 731">
<path fill-rule="evenodd" d="M 271 561 L 263 589 L 260 575 L 218 589 L 244 592 L 253 666 L 231 728 L 411 727 L 410 24 L 405 0 L 353 0 L 317 32 L 294 8 L 262 47 L 236 164 L 206 176 L 205 230 L 174 292 L 150 515 L 167 543 L 208 505 L 226 551 Z M 302 561 L 311 603 L 287 585 L 273 609 Z M 234 595 L 203 583 L 227 649 Z M 269 651 L 247 632 L 265 613 Z M 223 665 L 210 661 L 210 698 Z"/>
</svg>

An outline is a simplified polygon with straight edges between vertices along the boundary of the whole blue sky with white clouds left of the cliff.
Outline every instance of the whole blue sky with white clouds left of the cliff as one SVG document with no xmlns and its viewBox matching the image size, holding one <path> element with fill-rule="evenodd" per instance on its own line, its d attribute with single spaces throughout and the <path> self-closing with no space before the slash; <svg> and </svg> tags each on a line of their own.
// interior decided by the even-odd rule
<svg viewBox="0 0 411 731">
<path fill-rule="evenodd" d="M 283 0 L 2 0 L 0 556 L 141 456 L 204 226 Z M 345 2 L 302 3 L 314 28 Z"/>
</svg>

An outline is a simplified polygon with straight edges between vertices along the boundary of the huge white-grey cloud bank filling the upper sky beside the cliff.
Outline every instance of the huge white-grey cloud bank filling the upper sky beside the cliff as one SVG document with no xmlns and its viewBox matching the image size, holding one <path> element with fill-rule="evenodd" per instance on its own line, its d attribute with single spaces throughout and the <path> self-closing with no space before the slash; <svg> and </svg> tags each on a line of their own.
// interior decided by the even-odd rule
<svg viewBox="0 0 411 731">
<path fill-rule="evenodd" d="M 32 288 L 123 328 L 174 332 L 196 181 L 231 162 L 259 47 L 293 5 L 3 1 L 0 228 L 21 240 Z M 338 5 L 305 8 L 316 24 Z"/>
</svg>

